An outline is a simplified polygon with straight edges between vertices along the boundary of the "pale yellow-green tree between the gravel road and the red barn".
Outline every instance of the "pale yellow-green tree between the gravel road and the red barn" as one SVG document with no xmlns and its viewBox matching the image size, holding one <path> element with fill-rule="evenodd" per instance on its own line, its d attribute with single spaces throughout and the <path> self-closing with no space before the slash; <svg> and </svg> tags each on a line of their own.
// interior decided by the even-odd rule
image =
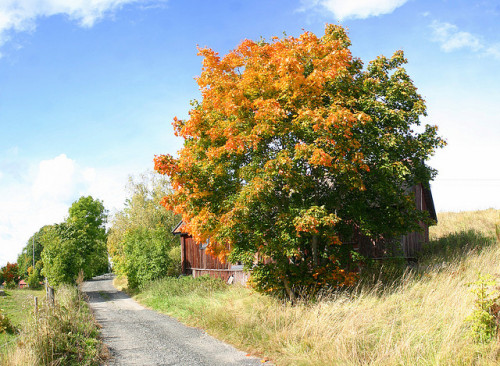
<svg viewBox="0 0 500 366">
<path fill-rule="evenodd" d="M 125 209 L 111 221 L 108 250 L 115 273 L 128 278 L 130 287 L 180 270 L 179 241 L 171 228 L 180 216 L 166 211 L 162 197 L 170 191 L 168 180 L 153 173 L 129 179 Z"/>
</svg>

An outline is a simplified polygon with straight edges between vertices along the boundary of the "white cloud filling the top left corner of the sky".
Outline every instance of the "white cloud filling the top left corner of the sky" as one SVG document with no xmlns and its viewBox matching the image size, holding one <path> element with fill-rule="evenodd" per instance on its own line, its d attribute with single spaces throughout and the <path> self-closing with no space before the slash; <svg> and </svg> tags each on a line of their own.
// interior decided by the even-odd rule
<svg viewBox="0 0 500 366">
<path fill-rule="evenodd" d="M 36 20 L 53 15 L 66 15 L 82 27 L 91 27 L 108 14 L 132 3 L 164 0 L 1 0 L 0 45 L 9 39 L 10 31 L 33 31 Z"/>
</svg>

